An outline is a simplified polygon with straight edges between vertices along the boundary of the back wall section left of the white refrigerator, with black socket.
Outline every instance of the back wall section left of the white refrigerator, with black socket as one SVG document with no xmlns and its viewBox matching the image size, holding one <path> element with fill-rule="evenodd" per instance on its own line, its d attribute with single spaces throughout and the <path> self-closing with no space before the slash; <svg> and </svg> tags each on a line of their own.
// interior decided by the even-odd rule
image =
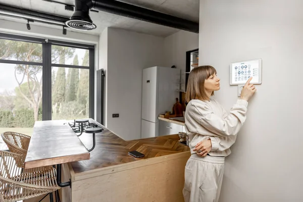
<svg viewBox="0 0 303 202">
<path fill-rule="evenodd" d="M 108 28 L 106 126 L 125 140 L 140 138 L 142 69 L 164 64 L 163 43 L 162 37 Z"/>
</svg>

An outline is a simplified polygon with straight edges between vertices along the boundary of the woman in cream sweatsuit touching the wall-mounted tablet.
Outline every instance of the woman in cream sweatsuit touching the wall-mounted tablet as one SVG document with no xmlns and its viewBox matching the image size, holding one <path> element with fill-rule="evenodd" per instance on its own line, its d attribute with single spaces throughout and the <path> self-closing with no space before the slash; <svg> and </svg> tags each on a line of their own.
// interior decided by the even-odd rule
<svg viewBox="0 0 303 202">
<path fill-rule="evenodd" d="M 185 202 L 219 200 L 224 158 L 235 142 L 246 119 L 249 98 L 256 92 L 254 85 L 244 85 L 240 99 L 227 115 L 213 98 L 220 89 L 220 79 L 212 66 L 194 68 L 188 77 L 185 130 L 189 137 L 191 156 L 185 166 L 183 196 Z"/>
</svg>

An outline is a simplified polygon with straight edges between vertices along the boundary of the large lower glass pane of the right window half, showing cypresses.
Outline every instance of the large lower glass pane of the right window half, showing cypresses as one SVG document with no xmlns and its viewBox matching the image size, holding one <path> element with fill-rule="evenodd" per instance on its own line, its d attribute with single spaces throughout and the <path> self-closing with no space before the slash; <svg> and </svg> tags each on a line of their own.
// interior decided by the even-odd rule
<svg viewBox="0 0 303 202">
<path fill-rule="evenodd" d="M 52 119 L 83 119 L 88 118 L 88 112 L 89 70 L 53 67 Z"/>
</svg>

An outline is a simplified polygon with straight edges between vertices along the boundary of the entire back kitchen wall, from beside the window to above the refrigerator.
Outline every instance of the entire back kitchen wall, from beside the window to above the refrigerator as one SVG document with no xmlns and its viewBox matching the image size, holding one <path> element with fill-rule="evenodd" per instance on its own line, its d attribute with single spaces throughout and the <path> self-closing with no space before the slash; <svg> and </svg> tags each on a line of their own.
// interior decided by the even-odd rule
<svg viewBox="0 0 303 202">
<path fill-rule="evenodd" d="M 99 40 L 99 69 L 107 69 L 105 125 L 125 140 L 141 134 L 142 69 L 153 66 L 185 72 L 186 51 L 198 48 L 198 34 L 179 31 L 166 38 L 108 28 Z M 185 74 L 182 75 L 183 89 Z M 119 118 L 112 114 L 119 113 Z"/>
</svg>

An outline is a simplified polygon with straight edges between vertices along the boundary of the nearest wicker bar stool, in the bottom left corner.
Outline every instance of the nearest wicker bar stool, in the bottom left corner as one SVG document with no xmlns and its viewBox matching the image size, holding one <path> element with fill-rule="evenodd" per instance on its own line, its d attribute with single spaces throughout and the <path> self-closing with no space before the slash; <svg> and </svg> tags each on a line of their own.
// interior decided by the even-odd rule
<svg viewBox="0 0 303 202">
<path fill-rule="evenodd" d="M 60 188 L 56 181 L 56 169 L 52 166 L 24 169 L 22 172 L 17 165 L 22 161 L 22 155 L 1 150 L 0 156 L 1 201 L 24 200 Z"/>
</svg>

